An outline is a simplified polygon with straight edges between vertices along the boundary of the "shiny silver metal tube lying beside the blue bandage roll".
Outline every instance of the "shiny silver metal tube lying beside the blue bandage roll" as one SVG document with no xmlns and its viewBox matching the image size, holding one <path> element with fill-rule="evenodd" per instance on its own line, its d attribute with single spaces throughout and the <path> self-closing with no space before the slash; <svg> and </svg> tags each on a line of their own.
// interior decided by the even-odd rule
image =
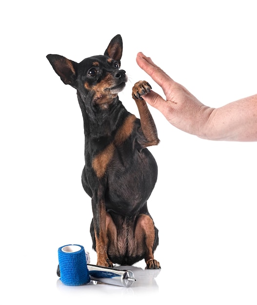
<svg viewBox="0 0 257 305">
<path fill-rule="evenodd" d="M 122 287 L 129 287 L 136 281 L 133 272 L 130 270 L 119 270 L 90 264 L 87 264 L 87 268 L 92 281 Z"/>
</svg>

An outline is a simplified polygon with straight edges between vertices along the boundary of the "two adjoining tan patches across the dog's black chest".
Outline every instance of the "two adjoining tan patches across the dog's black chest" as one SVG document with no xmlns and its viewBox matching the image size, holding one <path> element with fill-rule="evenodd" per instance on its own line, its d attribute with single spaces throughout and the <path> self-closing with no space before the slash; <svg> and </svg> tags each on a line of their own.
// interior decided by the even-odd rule
<svg viewBox="0 0 257 305">
<path fill-rule="evenodd" d="M 132 133 L 135 120 L 134 114 L 129 115 L 116 133 L 114 141 L 93 159 L 92 167 L 99 179 L 104 176 L 107 166 L 113 158 L 115 146 L 124 142 Z"/>
</svg>

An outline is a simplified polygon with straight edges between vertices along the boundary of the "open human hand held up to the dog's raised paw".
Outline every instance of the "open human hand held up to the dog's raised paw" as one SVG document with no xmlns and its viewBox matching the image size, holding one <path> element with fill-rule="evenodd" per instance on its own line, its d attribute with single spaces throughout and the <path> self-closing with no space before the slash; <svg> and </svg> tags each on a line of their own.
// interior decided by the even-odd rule
<svg viewBox="0 0 257 305">
<path fill-rule="evenodd" d="M 151 91 L 144 95 L 145 101 L 158 109 L 178 129 L 202 136 L 204 125 L 213 108 L 198 101 L 186 88 L 161 70 L 150 57 L 140 52 L 136 60 L 138 66 L 158 83 L 166 96 L 165 100 L 156 92 Z"/>
</svg>

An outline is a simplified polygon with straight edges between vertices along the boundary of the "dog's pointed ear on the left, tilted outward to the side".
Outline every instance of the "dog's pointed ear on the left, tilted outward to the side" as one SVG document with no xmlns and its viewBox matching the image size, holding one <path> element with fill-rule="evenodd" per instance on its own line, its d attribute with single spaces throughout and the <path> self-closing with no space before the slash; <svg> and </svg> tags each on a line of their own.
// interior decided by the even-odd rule
<svg viewBox="0 0 257 305">
<path fill-rule="evenodd" d="M 77 62 L 56 54 L 48 54 L 46 58 L 65 85 L 75 85 L 77 79 Z"/>
</svg>

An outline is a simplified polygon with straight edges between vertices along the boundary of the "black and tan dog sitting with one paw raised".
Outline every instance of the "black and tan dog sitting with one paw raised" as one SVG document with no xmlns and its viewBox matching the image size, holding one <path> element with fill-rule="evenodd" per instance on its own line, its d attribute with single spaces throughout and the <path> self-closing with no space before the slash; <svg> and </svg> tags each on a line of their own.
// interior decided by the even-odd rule
<svg viewBox="0 0 257 305">
<path fill-rule="evenodd" d="M 133 265 L 144 259 L 147 268 L 158 269 L 158 229 L 147 209 L 158 168 L 146 147 L 159 140 L 142 98 L 151 86 L 139 81 L 133 87 L 138 119 L 119 100 L 127 81 L 126 72 L 119 69 L 121 55 L 122 39 L 117 35 L 104 55 L 80 63 L 59 55 L 47 58 L 64 84 L 77 90 L 85 133 L 82 185 L 92 198 L 90 232 L 97 265 Z"/>
</svg>

